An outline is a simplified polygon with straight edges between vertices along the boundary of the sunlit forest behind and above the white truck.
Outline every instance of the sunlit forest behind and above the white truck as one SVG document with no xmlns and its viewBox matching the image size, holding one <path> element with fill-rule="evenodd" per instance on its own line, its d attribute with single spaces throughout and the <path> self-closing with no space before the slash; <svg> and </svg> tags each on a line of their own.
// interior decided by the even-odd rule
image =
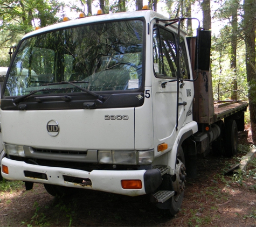
<svg viewBox="0 0 256 227">
<path fill-rule="evenodd" d="M 169 18 L 195 17 L 197 12 L 206 30 L 217 22 L 219 31 L 212 34 L 211 42 L 213 98 L 248 101 L 251 123 L 256 123 L 255 0 L 0 0 L 0 67 L 9 66 L 10 47 L 36 26 L 61 22 L 68 13 L 91 16 L 95 9 L 142 10 L 143 3 Z M 184 29 L 193 35 L 191 20 Z"/>
</svg>

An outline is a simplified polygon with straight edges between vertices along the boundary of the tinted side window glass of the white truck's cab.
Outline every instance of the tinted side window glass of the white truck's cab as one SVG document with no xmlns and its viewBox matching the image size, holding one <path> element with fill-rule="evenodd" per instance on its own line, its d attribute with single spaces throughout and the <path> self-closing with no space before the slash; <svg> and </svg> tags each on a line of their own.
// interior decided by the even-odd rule
<svg viewBox="0 0 256 227">
<path fill-rule="evenodd" d="M 156 77 L 177 77 L 177 56 L 175 34 L 155 25 L 153 31 L 153 59 Z M 184 39 L 179 46 L 179 68 L 183 79 L 190 76 Z"/>
</svg>

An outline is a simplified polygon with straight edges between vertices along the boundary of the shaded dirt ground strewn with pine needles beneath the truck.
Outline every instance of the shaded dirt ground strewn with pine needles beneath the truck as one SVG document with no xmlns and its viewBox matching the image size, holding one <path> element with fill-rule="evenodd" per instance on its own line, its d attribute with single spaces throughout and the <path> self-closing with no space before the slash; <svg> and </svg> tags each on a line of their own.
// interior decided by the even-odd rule
<svg viewBox="0 0 256 227">
<path fill-rule="evenodd" d="M 247 126 L 239 132 L 239 144 L 255 144 L 255 133 L 256 125 Z M 35 184 L 30 191 L 0 192 L 0 226 L 256 226 L 256 165 L 244 175 L 224 175 L 246 153 L 200 159 L 197 179 L 187 179 L 181 211 L 172 218 L 149 203 L 147 195 L 82 190 L 64 199 Z"/>
</svg>

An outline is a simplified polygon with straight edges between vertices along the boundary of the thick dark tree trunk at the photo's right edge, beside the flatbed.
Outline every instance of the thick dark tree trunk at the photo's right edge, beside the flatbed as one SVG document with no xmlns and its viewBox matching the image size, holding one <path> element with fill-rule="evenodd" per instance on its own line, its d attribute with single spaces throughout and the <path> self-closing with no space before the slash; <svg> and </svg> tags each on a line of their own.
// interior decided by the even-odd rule
<svg viewBox="0 0 256 227">
<path fill-rule="evenodd" d="M 244 0 L 243 5 L 243 26 L 245 37 L 245 58 L 246 58 L 246 74 L 249 83 L 249 106 L 251 123 L 256 123 L 256 100 L 252 98 L 252 94 L 256 92 L 250 84 L 256 83 L 255 69 L 255 28 L 256 28 L 256 2 L 255 0 Z"/>
</svg>

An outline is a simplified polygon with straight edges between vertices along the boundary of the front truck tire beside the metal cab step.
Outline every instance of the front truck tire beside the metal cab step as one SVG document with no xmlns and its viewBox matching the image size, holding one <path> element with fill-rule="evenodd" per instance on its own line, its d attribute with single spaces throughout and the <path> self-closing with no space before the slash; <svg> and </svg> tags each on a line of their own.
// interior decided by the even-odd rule
<svg viewBox="0 0 256 227">
<path fill-rule="evenodd" d="M 171 205 L 170 205 L 170 215 L 175 216 L 179 209 L 181 208 L 181 204 L 183 201 L 184 196 L 184 189 L 185 189 L 185 157 L 183 153 L 182 147 L 178 149 L 177 152 L 177 159 L 176 159 L 176 168 L 175 168 L 175 175 L 176 179 L 173 181 L 173 187 L 175 190 L 175 195 L 170 198 Z"/>
</svg>

